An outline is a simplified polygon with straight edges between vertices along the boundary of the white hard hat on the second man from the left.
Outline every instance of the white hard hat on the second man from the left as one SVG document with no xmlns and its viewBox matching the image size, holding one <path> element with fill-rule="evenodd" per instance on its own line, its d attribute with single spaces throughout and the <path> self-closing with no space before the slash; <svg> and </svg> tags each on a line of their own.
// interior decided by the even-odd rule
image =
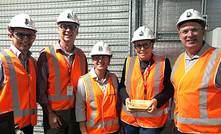
<svg viewBox="0 0 221 134">
<path fill-rule="evenodd" d="M 57 23 L 59 22 L 73 22 L 73 23 L 77 23 L 78 25 L 80 25 L 77 15 L 70 9 L 63 11 L 59 15 L 57 19 Z"/>
</svg>

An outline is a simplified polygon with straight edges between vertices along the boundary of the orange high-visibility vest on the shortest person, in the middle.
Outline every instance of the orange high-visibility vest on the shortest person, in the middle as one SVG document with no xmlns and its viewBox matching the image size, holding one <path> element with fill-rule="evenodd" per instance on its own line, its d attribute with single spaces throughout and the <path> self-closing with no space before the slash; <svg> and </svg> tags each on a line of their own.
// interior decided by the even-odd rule
<svg viewBox="0 0 221 134">
<path fill-rule="evenodd" d="M 106 94 L 89 73 L 82 76 L 86 88 L 86 126 L 91 134 L 113 133 L 119 129 L 117 114 L 117 77 L 110 73 Z"/>
</svg>

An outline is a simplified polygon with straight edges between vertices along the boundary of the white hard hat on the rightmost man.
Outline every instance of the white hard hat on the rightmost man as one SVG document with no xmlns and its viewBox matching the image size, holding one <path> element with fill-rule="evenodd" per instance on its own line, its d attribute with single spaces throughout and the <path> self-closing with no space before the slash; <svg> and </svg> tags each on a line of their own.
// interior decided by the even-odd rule
<svg viewBox="0 0 221 134">
<path fill-rule="evenodd" d="M 180 24 L 182 24 L 182 22 L 185 21 L 196 21 L 199 22 L 204 28 L 206 25 L 206 19 L 203 18 L 203 15 L 194 9 L 187 9 L 179 18 L 177 24 L 176 24 L 176 28 L 177 30 L 179 30 Z"/>
</svg>

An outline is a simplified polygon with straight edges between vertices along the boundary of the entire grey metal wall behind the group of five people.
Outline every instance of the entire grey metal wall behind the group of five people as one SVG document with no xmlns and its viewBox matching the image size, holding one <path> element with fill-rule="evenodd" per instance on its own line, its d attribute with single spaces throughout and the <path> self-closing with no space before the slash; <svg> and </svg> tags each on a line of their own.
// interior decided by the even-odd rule
<svg viewBox="0 0 221 134">
<path fill-rule="evenodd" d="M 98 41 L 105 41 L 114 53 L 109 70 L 120 78 L 124 59 L 135 55 L 130 40 L 141 25 L 155 31 L 157 43 L 154 53 L 168 57 L 173 66 L 177 56 L 185 50 L 175 24 L 188 8 L 208 15 L 208 30 L 221 26 L 220 0 L 0 0 L 0 49 L 11 45 L 6 30 L 10 19 L 18 13 L 26 13 L 36 22 L 38 29 L 31 48 L 37 58 L 43 47 L 55 44 L 59 39 L 56 27 L 58 15 L 65 9 L 72 9 L 81 23 L 75 44 L 88 57 L 89 69 L 93 66 L 89 57 L 92 46 Z M 35 134 L 43 133 L 41 107 L 38 109 Z M 169 122 L 162 133 L 171 133 Z"/>
</svg>

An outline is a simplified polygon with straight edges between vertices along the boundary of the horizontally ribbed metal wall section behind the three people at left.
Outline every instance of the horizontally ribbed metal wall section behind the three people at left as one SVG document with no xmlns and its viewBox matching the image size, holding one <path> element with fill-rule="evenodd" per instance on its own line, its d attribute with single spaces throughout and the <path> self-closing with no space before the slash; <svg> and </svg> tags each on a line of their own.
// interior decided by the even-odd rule
<svg viewBox="0 0 221 134">
<path fill-rule="evenodd" d="M 80 21 L 75 44 L 88 57 L 89 69 L 93 66 L 89 56 L 92 46 L 98 41 L 104 41 L 113 51 L 108 69 L 121 77 L 124 59 L 130 55 L 129 0 L 1 0 L 0 4 L 1 50 L 11 45 L 6 30 L 11 18 L 16 14 L 26 13 L 32 17 L 38 29 L 36 41 L 31 47 L 33 56 L 37 58 L 42 48 L 55 44 L 59 39 L 56 26 L 59 14 L 65 9 L 72 9 Z M 42 110 L 40 106 L 38 109 L 36 134 L 43 133 Z"/>
</svg>

